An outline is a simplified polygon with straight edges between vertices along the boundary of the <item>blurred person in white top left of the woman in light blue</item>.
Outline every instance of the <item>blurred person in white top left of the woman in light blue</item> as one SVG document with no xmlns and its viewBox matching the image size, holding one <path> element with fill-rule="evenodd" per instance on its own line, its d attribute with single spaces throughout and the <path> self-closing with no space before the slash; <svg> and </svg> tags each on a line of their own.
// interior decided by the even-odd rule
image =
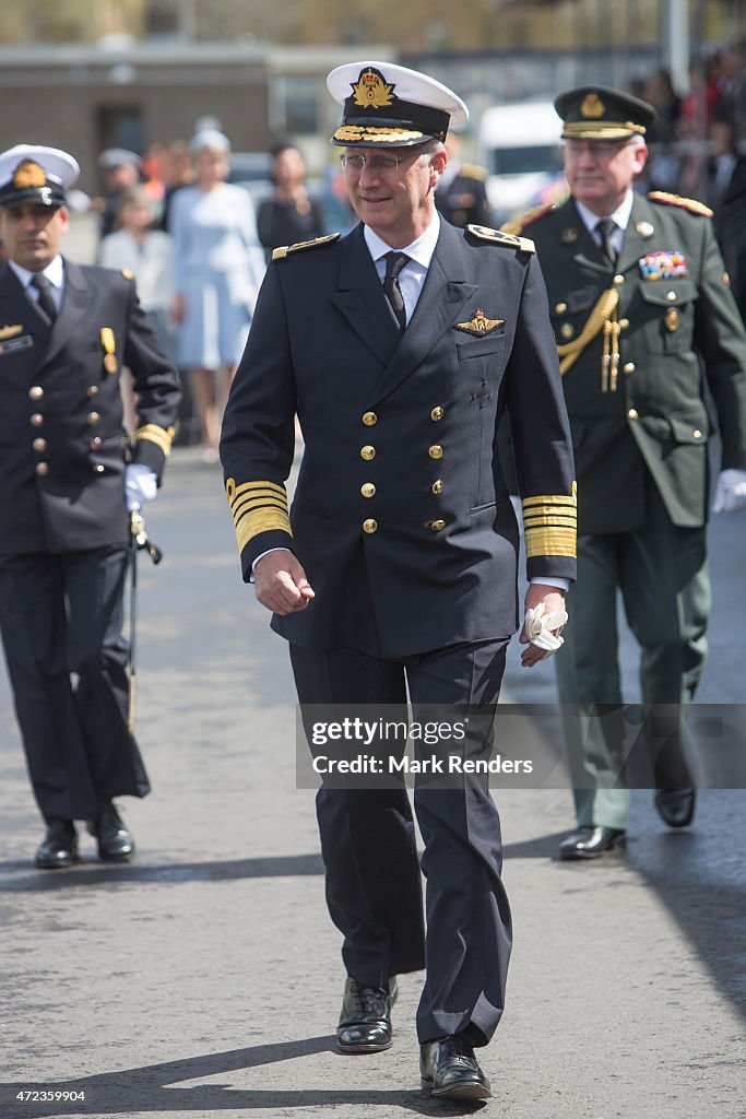
<svg viewBox="0 0 746 1119">
<path fill-rule="evenodd" d="M 144 185 L 131 187 L 122 196 L 119 228 L 98 246 L 97 263 L 104 269 L 126 270 L 138 284 L 140 305 L 145 312 L 163 354 L 172 356 L 173 242 L 168 233 L 153 228 L 154 206 Z M 122 372 L 125 426 L 136 425 L 132 374 Z"/>
</svg>

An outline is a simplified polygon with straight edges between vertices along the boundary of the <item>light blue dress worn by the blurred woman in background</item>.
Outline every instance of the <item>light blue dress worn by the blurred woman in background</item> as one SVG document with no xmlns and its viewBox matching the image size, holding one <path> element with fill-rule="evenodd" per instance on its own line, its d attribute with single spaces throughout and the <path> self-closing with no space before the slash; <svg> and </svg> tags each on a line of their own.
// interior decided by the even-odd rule
<svg viewBox="0 0 746 1119">
<path fill-rule="evenodd" d="M 254 205 L 243 187 L 185 187 L 170 211 L 176 289 L 185 298 L 179 364 L 237 365 L 264 276 Z"/>
</svg>

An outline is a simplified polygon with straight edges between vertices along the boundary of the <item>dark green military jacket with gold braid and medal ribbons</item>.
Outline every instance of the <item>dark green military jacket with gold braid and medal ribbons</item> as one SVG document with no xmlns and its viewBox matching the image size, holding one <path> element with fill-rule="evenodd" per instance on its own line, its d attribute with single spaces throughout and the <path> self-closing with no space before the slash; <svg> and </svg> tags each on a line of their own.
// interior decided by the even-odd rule
<svg viewBox="0 0 746 1119">
<path fill-rule="evenodd" d="M 506 227 L 533 239 L 549 292 L 578 533 L 641 527 L 645 469 L 674 525 L 703 525 L 715 417 L 723 469 L 746 469 L 746 335 L 708 214 L 635 195 L 614 267 L 572 198 Z"/>
</svg>

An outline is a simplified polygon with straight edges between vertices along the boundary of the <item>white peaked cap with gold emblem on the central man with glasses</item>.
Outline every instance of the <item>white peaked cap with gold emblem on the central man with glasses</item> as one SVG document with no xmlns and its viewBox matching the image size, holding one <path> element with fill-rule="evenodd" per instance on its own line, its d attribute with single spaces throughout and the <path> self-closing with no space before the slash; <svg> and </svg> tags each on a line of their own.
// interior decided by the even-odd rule
<svg viewBox="0 0 746 1119">
<path fill-rule="evenodd" d="M 466 105 L 446 85 L 395 63 L 347 63 L 331 72 L 327 86 L 344 106 L 331 142 L 346 148 L 445 140 L 451 124 L 469 120 Z"/>
</svg>

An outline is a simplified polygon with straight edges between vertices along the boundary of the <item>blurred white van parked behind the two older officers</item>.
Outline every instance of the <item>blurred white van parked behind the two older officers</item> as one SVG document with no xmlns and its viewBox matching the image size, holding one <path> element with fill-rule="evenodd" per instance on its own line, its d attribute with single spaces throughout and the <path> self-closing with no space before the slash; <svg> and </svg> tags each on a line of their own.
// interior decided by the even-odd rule
<svg viewBox="0 0 746 1119">
<path fill-rule="evenodd" d="M 560 131 L 549 101 L 518 101 L 484 111 L 478 158 L 489 172 L 487 192 L 499 223 L 564 197 Z"/>
</svg>

